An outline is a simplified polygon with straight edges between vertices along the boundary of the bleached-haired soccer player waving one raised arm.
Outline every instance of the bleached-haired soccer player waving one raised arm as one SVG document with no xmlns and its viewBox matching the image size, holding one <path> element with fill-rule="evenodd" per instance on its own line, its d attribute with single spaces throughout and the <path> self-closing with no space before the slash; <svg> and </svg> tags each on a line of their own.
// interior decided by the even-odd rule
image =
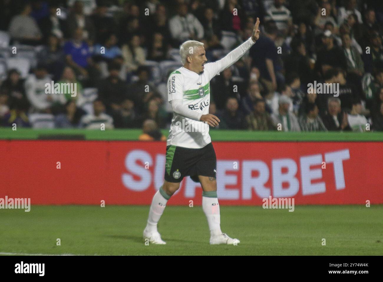
<svg viewBox="0 0 383 282">
<path fill-rule="evenodd" d="M 220 120 L 209 114 L 210 80 L 250 49 L 259 38 L 258 27 L 259 18 L 252 36 L 214 63 L 206 63 L 203 43 L 189 40 L 180 46 L 183 67 L 170 74 L 167 85 L 168 100 L 174 114 L 167 139 L 165 181 L 153 197 L 143 236 L 152 244 L 166 244 L 157 231 L 157 223 L 167 201 L 180 188 L 180 182 L 185 176 L 201 183 L 202 209 L 208 219 L 210 244 L 239 243 L 238 239 L 232 239 L 221 231 L 216 181 L 217 159 L 209 135 L 209 125 L 215 127 Z"/>
</svg>

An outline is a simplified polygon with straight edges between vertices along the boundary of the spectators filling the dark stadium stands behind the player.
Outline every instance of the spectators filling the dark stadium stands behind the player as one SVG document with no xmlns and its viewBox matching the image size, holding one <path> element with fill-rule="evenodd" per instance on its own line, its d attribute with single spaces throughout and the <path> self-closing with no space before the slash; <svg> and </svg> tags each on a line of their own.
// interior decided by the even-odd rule
<svg viewBox="0 0 383 282">
<path fill-rule="evenodd" d="M 261 35 L 210 84 L 219 129 L 383 131 L 383 2 L 55 0 L 0 4 L 0 122 L 33 128 L 143 128 L 163 139 L 179 46 L 208 61 Z M 75 85 L 52 93 L 46 84 Z M 334 85 L 324 93 L 309 84 Z M 339 89 L 335 87 L 339 86 Z M 337 89 L 337 92 L 334 92 Z M 335 95 L 334 95 L 335 94 Z"/>
</svg>

